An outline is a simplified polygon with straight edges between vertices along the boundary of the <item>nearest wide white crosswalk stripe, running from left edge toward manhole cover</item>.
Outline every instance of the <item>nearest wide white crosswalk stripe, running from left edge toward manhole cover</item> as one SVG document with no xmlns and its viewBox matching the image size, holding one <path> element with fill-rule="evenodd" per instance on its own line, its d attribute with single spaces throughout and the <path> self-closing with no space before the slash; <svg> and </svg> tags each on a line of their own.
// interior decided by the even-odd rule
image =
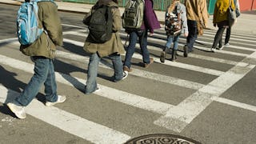
<svg viewBox="0 0 256 144">
<path fill-rule="evenodd" d="M 2 103 L 7 103 L 11 101 L 10 99 L 17 97 L 18 92 L 0 86 L 0 95 L 0 101 Z M 130 136 L 127 134 L 91 122 L 78 115 L 58 109 L 57 107 L 45 106 L 42 102 L 39 102 L 36 99 L 30 102 L 30 105 L 26 106 L 26 114 L 30 114 L 34 118 L 38 118 L 43 122 L 58 127 L 67 133 L 74 134 L 87 141 L 98 144 L 120 144 L 130 139 Z"/>
</svg>

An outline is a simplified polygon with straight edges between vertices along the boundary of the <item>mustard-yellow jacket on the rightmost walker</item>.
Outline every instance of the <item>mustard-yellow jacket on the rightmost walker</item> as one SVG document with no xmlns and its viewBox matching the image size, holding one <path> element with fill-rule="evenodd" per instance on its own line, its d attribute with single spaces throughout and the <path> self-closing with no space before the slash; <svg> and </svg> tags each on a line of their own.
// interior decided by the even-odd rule
<svg viewBox="0 0 256 144">
<path fill-rule="evenodd" d="M 233 0 L 217 0 L 214 7 L 214 21 L 213 23 L 219 23 L 223 21 L 227 21 L 228 8 L 230 6 L 234 10 L 234 1 Z"/>
</svg>

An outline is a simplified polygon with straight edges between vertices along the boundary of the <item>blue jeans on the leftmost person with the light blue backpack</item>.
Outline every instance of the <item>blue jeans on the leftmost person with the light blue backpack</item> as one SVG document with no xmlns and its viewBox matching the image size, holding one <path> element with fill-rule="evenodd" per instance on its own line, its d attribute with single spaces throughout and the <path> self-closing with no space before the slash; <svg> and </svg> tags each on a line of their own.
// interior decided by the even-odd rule
<svg viewBox="0 0 256 144">
<path fill-rule="evenodd" d="M 32 60 L 34 62 L 34 75 L 15 100 L 22 106 L 27 106 L 38 94 L 42 84 L 44 84 L 46 101 L 56 102 L 58 95 L 53 61 L 44 57 L 32 57 Z"/>
</svg>

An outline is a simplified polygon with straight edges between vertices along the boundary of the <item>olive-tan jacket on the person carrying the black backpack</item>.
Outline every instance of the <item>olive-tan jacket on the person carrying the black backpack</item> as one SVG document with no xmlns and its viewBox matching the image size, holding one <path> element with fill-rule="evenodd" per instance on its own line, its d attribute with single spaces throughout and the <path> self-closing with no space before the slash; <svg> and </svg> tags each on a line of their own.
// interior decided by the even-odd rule
<svg viewBox="0 0 256 144">
<path fill-rule="evenodd" d="M 105 1 L 105 0 L 104 0 Z M 103 1 L 101 1 L 103 2 Z M 105 1 L 106 2 L 106 1 Z M 104 2 L 103 2 L 104 3 Z M 119 30 L 121 30 L 122 27 L 122 19 L 120 15 L 120 10 L 118 9 L 118 5 L 115 2 L 107 2 L 104 5 L 107 6 L 114 6 L 112 9 L 112 14 L 113 14 L 113 30 L 116 31 L 115 33 L 112 34 L 111 38 L 109 41 L 105 43 L 92 43 L 92 40 L 90 40 L 90 37 L 86 38 L 86 42 L 83 46 L 83 49 L 86 50 L 87 53 L 94 54 L 98 53 L 100 57 L 105 57 L 110 54 L 124 54 L 125 50 L 119 35 Z M 84 20 L 89 17 L 91 14 L 88 13 Z"/>
</svg>

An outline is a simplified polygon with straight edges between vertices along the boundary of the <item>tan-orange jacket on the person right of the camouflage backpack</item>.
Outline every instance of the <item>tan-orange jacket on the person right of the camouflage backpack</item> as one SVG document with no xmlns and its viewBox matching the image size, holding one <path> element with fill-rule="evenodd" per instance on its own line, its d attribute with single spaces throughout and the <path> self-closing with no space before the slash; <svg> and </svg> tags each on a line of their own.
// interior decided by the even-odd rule
<svg viewBox="0 0 256 144">
<path fill-rule="evenodd" d="M 185 0 L 186 17 L 191 21 L 202 21 L 205 26 L 208 22 L 206 0 Z"/>
</svg>

